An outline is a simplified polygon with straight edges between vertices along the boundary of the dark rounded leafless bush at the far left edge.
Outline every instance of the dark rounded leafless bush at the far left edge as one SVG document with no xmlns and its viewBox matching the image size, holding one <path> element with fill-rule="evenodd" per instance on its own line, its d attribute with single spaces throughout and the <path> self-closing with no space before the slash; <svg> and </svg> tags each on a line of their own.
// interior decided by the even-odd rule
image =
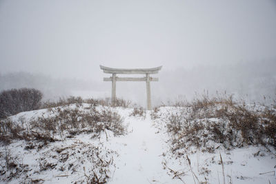
<svg viewBox="0 0 276 184">
<path fill-rule="evenodd" d="M 39 90 L 33 88 L 4 90 L 0 94 L 0 118 L 37 110 L 41 105 L 42 96 Z"/>
</svg>

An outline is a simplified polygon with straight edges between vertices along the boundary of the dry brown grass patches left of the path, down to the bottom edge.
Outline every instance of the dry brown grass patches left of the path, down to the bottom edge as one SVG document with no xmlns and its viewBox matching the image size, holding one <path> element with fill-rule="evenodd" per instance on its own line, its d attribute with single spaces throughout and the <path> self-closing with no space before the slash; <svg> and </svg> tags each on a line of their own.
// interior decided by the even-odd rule
<svg viewBox="0 0 276 184">
<path fill-rule="evenodd" d="M 79 102 L 75 105 L 50 108 L 46 114 L 30 122 L 25 119 L 21 119 L 21 123 L 13 122 L 10 119 L 1 119 L 1 143 L 8 146 L 14 141 L 25 140 L 26 147 L 24 150 L 35 149 L 37 152 L 43 152 L 46 147 L 55 145 L 52 142 L 66 141 L 66 138 L 74 138 L 78 134 L 89 134 L 91 138 L 99 138 L 101 132 L 106 132 L 106 130 L 110 130 L 115 136 L 126 133 L 126 127 L 122 124 L 123 119 L 111 108 L 95 107 L 95 105 L 90 105 L 87 108 Z M 28 124 L 28 128 L 26 128 L 26 124 Z M 110 178 L 109 167 L 114 165 L 112 156 L 116 153 L 101 148 L 101 146 L 103 145 L 95 146 L 76 141 L 75 145 L 71 147 L 57 147 L 51 150 L 51 154 L 57 152 L 52 157 L 55 158 L 55 161 L 47 160 L 48 154 L 41 156 L 37 172 L 60 170 L 61 172 L 73 173 L 79 171 L 82 169 L 79 168 L 81 164 L 76 165 L 73 161 L 70 163 L 71 159 L 75 158 L 76 153 L 79 153 L 79 162 L 90 163 L 91 167 L 86 168 L 83 177 L 79 178 L 76 183 L 106 183 Z M 0 154 L 2 155 L 3 152 Z M 22 165 L 9 152 L 3 154 L 3 159 L 0 159 L 1 174 L 5 174 L 5 177 L 2 178 L 3 181 L 28 176 L 27 173 L 34 172 L 28 170 L 28 165 Z M 32 181 L 31 178 L 25 179 L 26 182 Z"/>
</svg>

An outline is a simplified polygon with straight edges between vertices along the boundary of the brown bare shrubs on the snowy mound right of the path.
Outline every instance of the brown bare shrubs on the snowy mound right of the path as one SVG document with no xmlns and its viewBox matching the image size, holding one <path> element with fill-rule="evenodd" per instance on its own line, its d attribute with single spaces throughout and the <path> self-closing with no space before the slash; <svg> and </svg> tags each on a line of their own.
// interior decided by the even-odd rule
<svg viewBox="0 0 276 184">
<path fill-rule="evenodd" d="M 217 148 L 214 143 L 226 149 L 258 144 L 275 146 L 274 108 L 237 103 L 232 96 L 227 99 L 203 96 L 185 104 L 166 117 L 173 153 L 181 154 L 193 145 L 213 152 Z"/>
</svg>

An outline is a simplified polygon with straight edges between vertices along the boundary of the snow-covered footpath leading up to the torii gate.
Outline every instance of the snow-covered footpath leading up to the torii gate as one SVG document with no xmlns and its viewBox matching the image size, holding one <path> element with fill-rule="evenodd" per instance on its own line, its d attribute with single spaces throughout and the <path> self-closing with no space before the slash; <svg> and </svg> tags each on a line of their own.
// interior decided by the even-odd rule
<svg viewBox="0 0 276 184">
<path fill-rule="evenodd" d="M 126 117 L 129 123 L 126 136 L 110 140 L 110 148 L 117 150 L 116 170 L 109 183 L 171 183 L 161 163 L 166 152 L 166 143 L 162 134 L 157 134 L 150 114 L 146 119 Z M 180 181 L 174 181 L 180 183 Z"/>
</svg>

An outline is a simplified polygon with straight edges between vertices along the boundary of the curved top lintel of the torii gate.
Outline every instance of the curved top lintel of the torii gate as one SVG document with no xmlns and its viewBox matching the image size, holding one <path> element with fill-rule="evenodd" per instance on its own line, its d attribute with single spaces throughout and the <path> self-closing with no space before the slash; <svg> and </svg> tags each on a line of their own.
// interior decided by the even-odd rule
<svg viewBox="0 0 276 184">
<path fill-rule="evenodd" d="M 104 73 L 108 74 L 157 74 L 161 70 L 162 66 L 157 68 L 143 68 L 143 69 L 121 69 L 121 68 L 108 68 L 103 65 L 99 65 Z"/>
</svg>

